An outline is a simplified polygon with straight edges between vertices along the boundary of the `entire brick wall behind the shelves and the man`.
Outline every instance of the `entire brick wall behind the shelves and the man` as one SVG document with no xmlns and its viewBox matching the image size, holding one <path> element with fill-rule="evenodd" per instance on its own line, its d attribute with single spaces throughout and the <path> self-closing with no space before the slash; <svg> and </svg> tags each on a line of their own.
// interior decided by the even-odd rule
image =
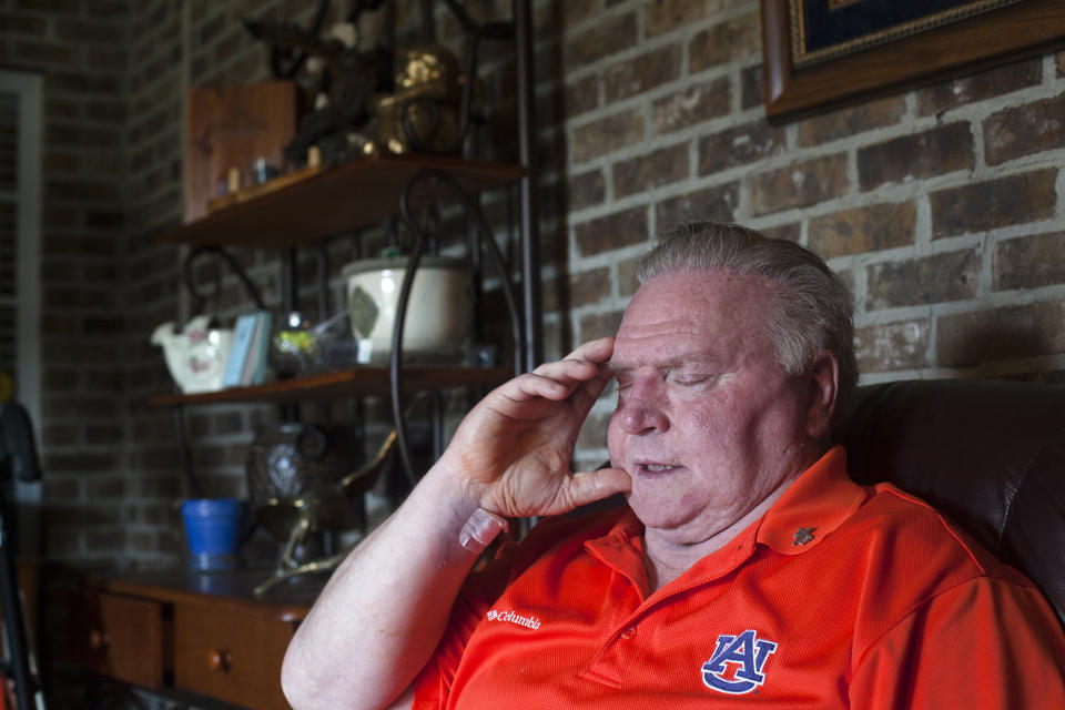
<svg viewBox="0 0 1065 710">
<path fill-rule="evenodd" d="M 144 400 L 170 387 L 151 328 L 197 307 L 182 295 L 183 250 L 151 239 L 182 213 L 182 101 L 193 85 L 267 77 L 241 18 L 306 22 L 314 4 L 0 1 L 0 62 L 47 78 L 41 429 L 53 555 L 136 566 L 180 555 L 181 448 L 172 413 Z M 417 20 L 408 4 L 400 23 Z M 505 0 L 469 7 L 509 13 Z M 548 357 L 617 326 L 651 234 L 709 216 L 829 258 L 854 294 L 865 382 L 1065 379 L 1061 57 L 770 124 L 757 0 L 535 8 Z M 437 28 L 454 39 L 445 16 Z M 513 73 L 494 57 L 487 91 L 506 106 Z M 505 156 L 503 113 L 486 142 Z M 513 223 L 510 202 L 487 206 Z M 353 245 L 382 240 L 371 230 L 329 245 L 336 303 Z M 276 305 L 274 255 L 239 257 Z M 220 272 L 204 265 L 199 277 Z M 313 264 L 301 273 L 308 281 Z M 219 277 L 203 307 L 232 318 L 248 303 Z M 578 463 L 605 458 L 610 408 L 607 397 L 594 409 Z M 197 479 L 212 495 L 242 494 L 246 445 L 274 408 L 184 416 Z"/>
</svg>

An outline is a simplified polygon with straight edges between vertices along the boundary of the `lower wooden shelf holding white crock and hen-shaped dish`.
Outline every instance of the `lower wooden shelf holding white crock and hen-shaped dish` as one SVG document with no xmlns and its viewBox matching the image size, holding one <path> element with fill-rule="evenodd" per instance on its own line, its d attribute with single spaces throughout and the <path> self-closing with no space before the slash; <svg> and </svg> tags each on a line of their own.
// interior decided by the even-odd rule
<svg viewBox="0 0 1065 710">
<path fill-rule="evenodd" d="M 514 377 L 508 367 L 424 367 L 404 366 L 400 384 L 406 394 L 466 387 L 496 386 Z M 307 377 L 281 379 L 254 387 L 230 387 L 217 392 L 193 395 L 155 395 L 148 404 L 166 407 L 181 404 L 220 404 L 253 402 L 306 402 L 313 399 L 341 399 L 367 395 L 387 396 L 389 372 L 387 367 L 356 367 Z"/>
</svg>

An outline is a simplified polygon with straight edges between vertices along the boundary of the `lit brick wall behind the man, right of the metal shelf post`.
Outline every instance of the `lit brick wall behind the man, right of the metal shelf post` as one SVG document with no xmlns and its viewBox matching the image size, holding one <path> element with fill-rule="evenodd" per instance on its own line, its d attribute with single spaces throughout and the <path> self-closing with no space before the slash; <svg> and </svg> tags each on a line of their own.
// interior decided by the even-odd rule
<svg viewBox="0 0 1065 710">
<path fill-rule="evenodd" d="M 844 276 L 863 382 L 1065 378 L 1059 55 L 771 124 L 755 0 L 539 9 L 555 28 L 537 65 L 545 180 L 566 204 L 545 275 L 568 306 L 546 308 L 552 355 L 617 326 L 649 234 L 709 216 Z M 594 409 L 579 463 L 605 458 L 611 408 Z"/>
</svg>

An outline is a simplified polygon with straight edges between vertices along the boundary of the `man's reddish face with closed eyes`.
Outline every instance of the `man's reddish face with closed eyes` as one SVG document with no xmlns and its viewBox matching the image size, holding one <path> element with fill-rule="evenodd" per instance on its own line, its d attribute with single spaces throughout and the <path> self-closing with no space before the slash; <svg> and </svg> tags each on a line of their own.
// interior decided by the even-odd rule
<svg viewBox="0 0 1065 710">
<path fill-rule="evenodd" d="M 784 372 L 767 334 L 773 297 L 758 276 L 677 274 L 645 283 L 626 310 L 608 442 L 649 530 L 708 539 L 816 459 L 809 378 Z"/>
</svg>

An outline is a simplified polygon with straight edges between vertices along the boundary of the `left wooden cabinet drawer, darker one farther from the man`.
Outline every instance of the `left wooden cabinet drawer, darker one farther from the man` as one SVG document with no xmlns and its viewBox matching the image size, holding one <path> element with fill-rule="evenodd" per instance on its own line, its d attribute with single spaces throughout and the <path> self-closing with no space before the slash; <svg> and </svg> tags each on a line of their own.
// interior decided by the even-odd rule
<svg viewBox="0 0 1065 710">
<path fill-rule="evenodd" d="M 166 621 L 161 604 L 81 591 L 74 594 L 69 611 L 73 662 L 144 688 L 162 687 Z"/>
</svg>

